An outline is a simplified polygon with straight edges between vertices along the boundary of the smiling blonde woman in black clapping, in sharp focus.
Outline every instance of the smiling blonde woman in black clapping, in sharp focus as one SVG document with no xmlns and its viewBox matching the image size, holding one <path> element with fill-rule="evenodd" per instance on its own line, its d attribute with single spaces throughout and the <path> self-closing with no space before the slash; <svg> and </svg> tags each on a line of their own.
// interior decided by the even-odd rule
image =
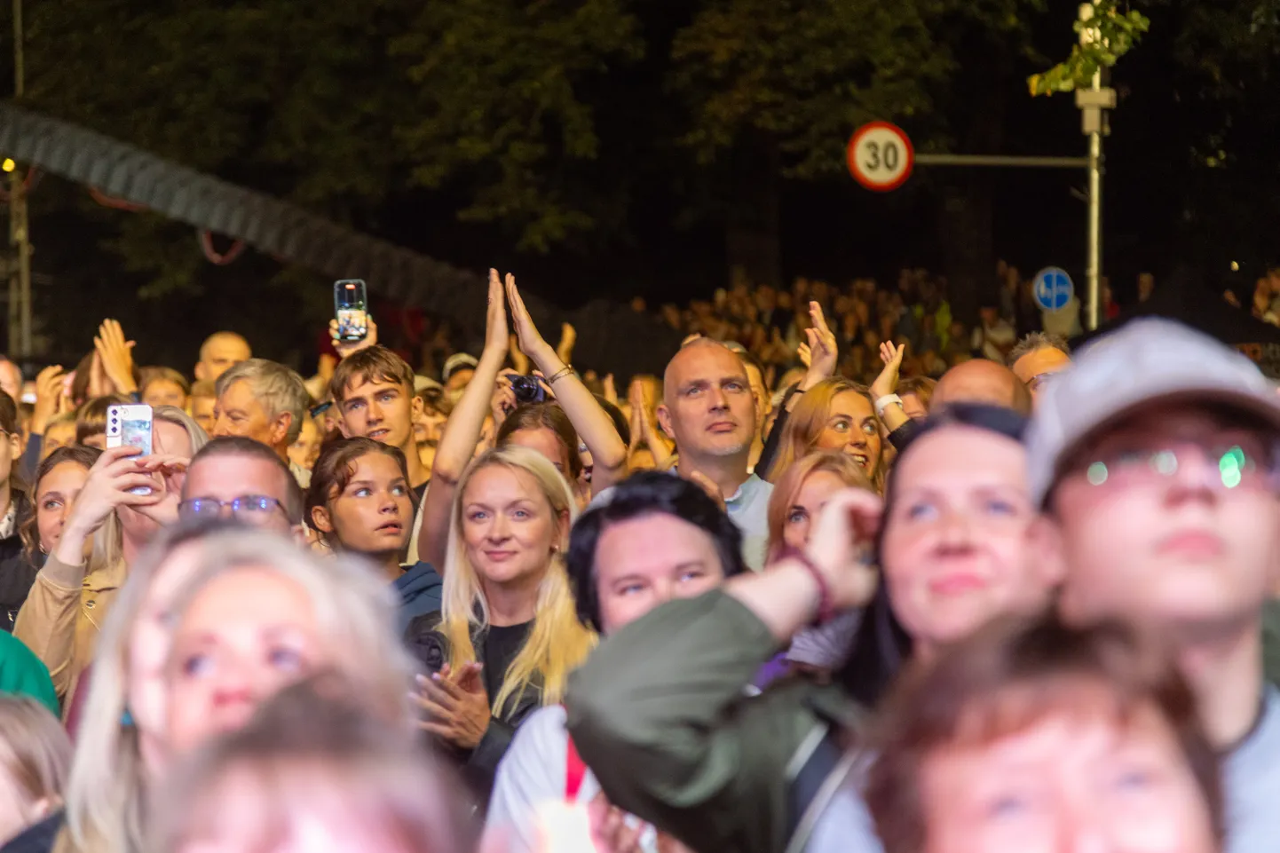
<svg viewBox="0 0 1280 853">
<path fill-rule="evenodd" d="M 554 704 L 595 635 L 576 616 L 564 573 L 573 492 L 526 447 L 492 450 L 458 482 L 443 607 L 406 637 L 419 678 L 422 727 L 462 751 L 481 794 L 516 727 Z"/>
</svg>

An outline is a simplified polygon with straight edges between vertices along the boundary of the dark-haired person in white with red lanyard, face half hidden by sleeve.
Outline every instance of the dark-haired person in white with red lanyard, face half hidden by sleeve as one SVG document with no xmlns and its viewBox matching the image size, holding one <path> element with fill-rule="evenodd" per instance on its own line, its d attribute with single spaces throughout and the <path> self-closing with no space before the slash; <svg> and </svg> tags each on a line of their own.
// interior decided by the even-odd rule
<svg viewBox="0 0 1280 853">
<path fill-rule="evenodd" d="M 608 637 L 663 602 L 714 589 L 745 570 L 741 540 L 737 526 L 696 484 L 669 474 L 635 474 L 573 525 L 567 567 L 579 620 Z M 503 758 L 486 826 L 507 836 L 511 853 L 531 853 L 539 849 L 541 804 L 588 803 L 599 790 L 570 743 L 564 708 L 547 707 L 525 721 Z M 653 834 L 641 849 L 655 849 Z"/>
</svg>

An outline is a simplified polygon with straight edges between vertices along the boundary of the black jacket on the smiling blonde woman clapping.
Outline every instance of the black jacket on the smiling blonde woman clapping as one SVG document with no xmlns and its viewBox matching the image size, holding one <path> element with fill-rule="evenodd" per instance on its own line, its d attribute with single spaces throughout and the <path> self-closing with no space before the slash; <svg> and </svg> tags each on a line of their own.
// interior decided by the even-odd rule
<svg viewBox="0 0 1280 853">
<path fill-rule="evenodd" d="M 439 630 L 439 625 L 440 613 L 436 611 L 415 617 L 404 631 L 404 643 L 417 658 L 424 675 L 439 672 L 449 660 L 449 640 Z M 484 660 L 485 634 L 485 630 L 476 626 L 471 629 L 471 646 L 475 648 L 477 661 Z M 541 704 L 541 684 L 534 679 L 529 689 L 509 698 L 507 704 L 489 720 L 489 727 L 476 748 L 458 754 L 463 777 L 481 803 L 489 800 L 498 762 L 507 754 L 511 740 L 516 736 L 516 729 Z"/>
</svg>

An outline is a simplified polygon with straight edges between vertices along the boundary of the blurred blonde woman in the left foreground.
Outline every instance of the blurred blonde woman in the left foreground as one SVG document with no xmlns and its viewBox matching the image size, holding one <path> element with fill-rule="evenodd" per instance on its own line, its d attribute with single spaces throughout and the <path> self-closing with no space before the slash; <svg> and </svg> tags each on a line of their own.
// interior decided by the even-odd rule
<svg viewBox="0 0 1280 853">
<path fill-rule="evenodd" d="M 234 727 L 201 704 L 200 684 L 184 683 L 174 695 L 170 671 L 177 649 L 191 653 L 195 631 L 205 638 L 204 648 L 220 649 L 229 630 L 269 628 L 273 616 L 248 607 L 220 625 L 198 621 L 209 617 L 206 593 L 225 592 L 211 585 L 228 579 L 244 601 L 265 598 L 270 581 L 280 581 L 276 588 L 302 605 L 308 643 L 296 651 L 306 654 L 307 669 L 338 670 L 384 719 L 412 725 L 404 698 L 408 658 L 389 628 L 394 602 L 369 566 L 343 557 L 320 561 L 287 539 L 230 521 L 180 524 L 138 560 L 104 628 L 56 853 L 141 853 L 147 799 L 164 784 L 170 760 Z M 266 698 L 256 690 L 250 695 Z"/>
</svg>

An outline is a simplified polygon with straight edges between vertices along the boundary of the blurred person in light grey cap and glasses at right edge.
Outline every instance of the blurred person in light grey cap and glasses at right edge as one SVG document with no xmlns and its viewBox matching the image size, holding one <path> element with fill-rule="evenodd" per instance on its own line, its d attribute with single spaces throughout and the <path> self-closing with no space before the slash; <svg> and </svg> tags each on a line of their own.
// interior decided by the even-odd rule
<svg viewBox="0 0 1280 853">
<path fill-rule="evenodd" d="M 1167 320 L 1087 347 L 1028 430 L 1034 529 L 1066 619 L 1151 625 L 1222 756 L 1228 853 L 1280 839 L 1280 690 L 1262 616 L 1280 589 L 1280 400 L 1243 355 Z"/>
</svg>

